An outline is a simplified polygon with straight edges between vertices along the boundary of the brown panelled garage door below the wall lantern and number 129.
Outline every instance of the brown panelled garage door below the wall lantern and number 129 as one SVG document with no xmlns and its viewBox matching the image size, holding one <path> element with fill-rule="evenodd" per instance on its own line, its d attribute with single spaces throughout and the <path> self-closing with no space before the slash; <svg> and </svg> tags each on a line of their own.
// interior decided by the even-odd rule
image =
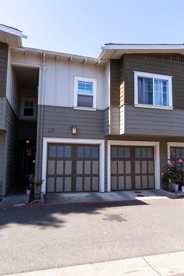
<svg viewBox="0 0 184 276">
<path fill-rule="evenodd" d="M 99 146 L 48 144 L 46 193 L 99 191 Z"/>
</svg>

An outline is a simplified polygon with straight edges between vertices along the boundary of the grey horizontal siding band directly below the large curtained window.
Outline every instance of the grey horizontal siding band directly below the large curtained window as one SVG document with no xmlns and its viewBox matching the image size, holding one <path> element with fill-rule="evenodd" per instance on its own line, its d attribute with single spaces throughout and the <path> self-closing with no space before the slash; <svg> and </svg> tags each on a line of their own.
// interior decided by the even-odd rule
<svg viewBox="0 0 184 276">
<path fill-rule="evenodd" d="M 184 110 L 162 110 L 124 105 L 120 133 L 184 136 Z"/>
</svg>

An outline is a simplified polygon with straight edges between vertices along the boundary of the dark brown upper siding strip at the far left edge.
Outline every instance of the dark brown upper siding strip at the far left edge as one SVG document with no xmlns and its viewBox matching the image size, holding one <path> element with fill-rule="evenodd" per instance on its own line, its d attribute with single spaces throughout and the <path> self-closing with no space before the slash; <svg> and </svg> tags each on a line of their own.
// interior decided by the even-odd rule
<svg viewBox="0 0 184 276">
<path fill-rule="evenodd" d="M 0 97 L 6 96 L 8 45 L 0 43 Z"/>
</svg>

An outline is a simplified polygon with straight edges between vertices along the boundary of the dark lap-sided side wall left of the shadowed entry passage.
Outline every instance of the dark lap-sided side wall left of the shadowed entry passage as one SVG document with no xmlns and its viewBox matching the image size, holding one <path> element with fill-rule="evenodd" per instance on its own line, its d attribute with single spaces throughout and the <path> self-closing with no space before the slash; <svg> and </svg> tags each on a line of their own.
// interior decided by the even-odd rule
<svg viewBox="0 0 184 276">
<path fill-rule="evenodd" d="M 6 101 L 5 128 L 7 129 L 5 194 L 15 184 L 18 149 L 18 118 Z"/>
</svg>

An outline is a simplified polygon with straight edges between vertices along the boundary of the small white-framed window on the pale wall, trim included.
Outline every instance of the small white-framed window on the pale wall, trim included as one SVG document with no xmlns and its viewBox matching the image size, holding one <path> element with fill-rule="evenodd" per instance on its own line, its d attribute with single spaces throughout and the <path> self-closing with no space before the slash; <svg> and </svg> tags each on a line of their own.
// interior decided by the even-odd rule
<svg viewBox="0 0 184 276">
<path fill-rule="evenodd" d="M 96 110 L 97 79 L 74 76 L 74 109 Z"/>
</svg>

